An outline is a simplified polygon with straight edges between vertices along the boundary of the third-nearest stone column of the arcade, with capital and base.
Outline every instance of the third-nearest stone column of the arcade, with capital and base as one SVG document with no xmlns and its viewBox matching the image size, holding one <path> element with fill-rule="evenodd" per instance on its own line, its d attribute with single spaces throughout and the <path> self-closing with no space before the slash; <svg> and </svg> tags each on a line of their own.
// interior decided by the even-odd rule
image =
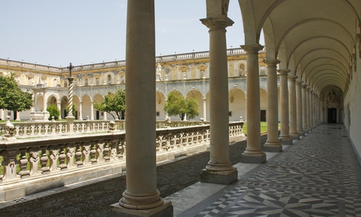
<svg viewBox="0 0 361 217">
<path fill-rule="evenodd" d="M 260 145 L 260 71 L 258 65 L 258 51 L 263 46 L 242 45 L 246 51 L 246 121 L 247 121 L 247 147 L 242 153 L 242 163 L 263 163 L 266 154 Z"/>
</svg>

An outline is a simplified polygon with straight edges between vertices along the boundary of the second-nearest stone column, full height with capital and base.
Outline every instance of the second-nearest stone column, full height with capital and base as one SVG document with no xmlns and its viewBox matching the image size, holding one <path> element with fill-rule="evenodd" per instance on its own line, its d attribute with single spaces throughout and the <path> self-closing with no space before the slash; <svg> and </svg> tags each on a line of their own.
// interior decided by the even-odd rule
<svg viewBox="0 0 361 217">
<path fill-rule="evenodd" d="M 201 22 L 210 30 L 210 161 L 201 172 L 201 182 L 230 184 L 238 172 L 229 161 L 227 16 L 208 17 Z"/>
</svg>

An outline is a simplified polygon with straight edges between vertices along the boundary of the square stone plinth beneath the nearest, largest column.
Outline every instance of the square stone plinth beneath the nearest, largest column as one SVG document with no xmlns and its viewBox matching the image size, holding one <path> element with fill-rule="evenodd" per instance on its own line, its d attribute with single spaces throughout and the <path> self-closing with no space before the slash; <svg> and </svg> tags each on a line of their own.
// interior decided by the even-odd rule
<svg viewBox="0 0 361 217">
<path fill-rule="evenodd" d="M 156 207 L 153 209 L 128 209 L 121 207 L 119 202 L 110 205 L 110 212 L 108 216 L 125 216 L 125 217 L 133 217 L 133 216 L 143 216 L 143 217 L 162 217 L 162 216 L 170 216 L 173 217 L 173 206 L 171 205 L 171 201 L 164 201 L 164 203 L 160 207 Z"/>
</svg>

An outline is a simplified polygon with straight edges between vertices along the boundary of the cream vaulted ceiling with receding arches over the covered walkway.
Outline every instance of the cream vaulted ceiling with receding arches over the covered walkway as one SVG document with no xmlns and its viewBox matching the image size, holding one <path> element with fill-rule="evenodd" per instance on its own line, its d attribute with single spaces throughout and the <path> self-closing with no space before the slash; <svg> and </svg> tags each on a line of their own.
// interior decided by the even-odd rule
<svg viewBox="0 0 361 217">
<path fill-rule="evenodd" d="M 265 34 L 267 60 L 280 60 L 317 93 L 347 91 L 355 72 L 360 0 L 238 0 L 246 45 Z"/>
</svg>

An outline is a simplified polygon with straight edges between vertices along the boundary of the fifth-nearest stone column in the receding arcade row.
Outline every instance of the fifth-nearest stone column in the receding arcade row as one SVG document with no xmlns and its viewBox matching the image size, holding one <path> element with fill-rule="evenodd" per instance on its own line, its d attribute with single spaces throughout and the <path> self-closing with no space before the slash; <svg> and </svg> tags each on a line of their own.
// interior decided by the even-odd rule
<svg viewBox="0 0 361 217">
<path fill-rule="evenodd" d="M 288 87 L 287 74 L 289 70 L 278 70 L 280 74 L 280 143 L 292 145 L 292 138 L 289 136 L 289 109 L 288 109 Z"/>
</svg>

